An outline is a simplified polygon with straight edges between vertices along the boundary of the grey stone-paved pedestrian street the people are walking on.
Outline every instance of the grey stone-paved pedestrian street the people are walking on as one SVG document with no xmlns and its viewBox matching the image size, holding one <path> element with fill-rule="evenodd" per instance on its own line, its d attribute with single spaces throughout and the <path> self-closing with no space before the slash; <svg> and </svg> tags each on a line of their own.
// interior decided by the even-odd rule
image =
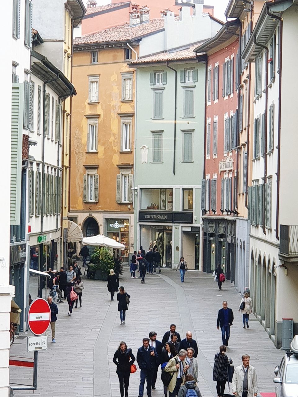
<svg viewBox="0 0 298 397">
<path fill-rule="evenodd" d="M 185 282 L 174 270 L 162 270 L 161 274 L 147 275 L 146 284 L 131 279 L 128 267 L 121 276 L 131 295 L 126 312 L 126 325 L 120 326 L 117 301 L 110 301 L 106 282 L 85 279 L 82 308 L 74 309 L 68 317 L 68 304 L 58 304 L 56 343 L 51 343 L 48 331 L 48 350 L 39 353 L 38 382 L 35 396 L 49 397 L 118 397 L 118 377 L 112 362 L 114 351 L 124 340 L 134 355 L 149 331 L 157 332 L 161 340 L 171 323 L 184 338 L 186 331 L 193 332 L 199 345 L 199 388 L 203 397 L 216 396 L 216 383 L 212 381 L 214 355 L 222 344 L 221 331 L 216 328 L 217 311 L 222 301 L 234 311 L 234 325 L 227 355 L 234 366 L 241 363 L 241 355 L 248 353 L 250 362 L 258 375 L 259 391 L 273 392 L 273 369 L 279 364 L 282 351 L 276 350 L 263 327 L 253 316 L 250 328 L 244 330 L 242 315 L 238 313 L 240 297 L 234 287 L 226 281 L 218 291 L 211 275 L 188 271 Z M 26 339 L 20 335 L 11 347 L 10 355 L 33 357 L 26 353 Z M 32 368 L 12 366 L 11 383 L 32 384 Z M 163 385 L 158 374 L 154 397 L 162 397 Z M 129 395 L 137 397 L 139 370 L 130 377 Z M 226 393 L 228 388 L 226 387 Z M 15 396 L 31 395 L 32 391 L 15 391 Z M 146 394 L 145 394 L 146 395 Z"/>
</svg>

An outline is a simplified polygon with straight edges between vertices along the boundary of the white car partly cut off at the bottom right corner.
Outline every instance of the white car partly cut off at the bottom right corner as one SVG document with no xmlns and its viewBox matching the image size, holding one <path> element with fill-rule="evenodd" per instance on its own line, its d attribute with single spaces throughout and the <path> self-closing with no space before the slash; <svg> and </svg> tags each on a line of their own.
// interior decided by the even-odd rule
<svg viewBox="0 0 298 397">
<path fill-rule="evenodd" d="M 274 373 L 277 376 L 273 379 L 276 397 L 298 397 L 298 335 L 293 338 L 291 350 L 285 353 Z"/>
</svg>

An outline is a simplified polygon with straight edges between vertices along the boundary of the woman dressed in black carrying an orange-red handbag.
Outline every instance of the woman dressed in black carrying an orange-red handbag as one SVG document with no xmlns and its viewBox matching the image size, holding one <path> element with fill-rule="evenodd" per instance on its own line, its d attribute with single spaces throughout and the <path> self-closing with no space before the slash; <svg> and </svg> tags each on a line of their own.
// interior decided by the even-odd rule
<svg viewBox="0 0 298 397">
<path fill-rule="evenodd" d="M 128 349 L 125 342 L 120 342 L 118 349 L 115 351 L 113 362 L 117 366 L 116 374 L 119 378 L 120 395 L 121 397 L 124 397 L 124 384 L 125 397 L 128 397 L 130 366 L 134 364 L 135 357 L 132 354 L 132 349 Z"/>
</svg>

